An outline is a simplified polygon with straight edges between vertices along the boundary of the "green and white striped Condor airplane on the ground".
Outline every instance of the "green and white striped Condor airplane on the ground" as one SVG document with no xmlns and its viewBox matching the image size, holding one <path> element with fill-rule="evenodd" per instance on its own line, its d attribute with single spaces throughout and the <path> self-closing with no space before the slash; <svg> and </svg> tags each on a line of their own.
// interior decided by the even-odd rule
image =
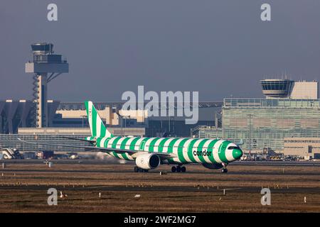
<svg viewBox="0 0 320 227">
<path fill-rule="evenodd" d="M 87 138 L 69 138 L 82 140 L 91 145 L 62 145 L 54 143 L 34 143 L 21 140 L 24 143 L 36 145 L 55 145 L 69 148 L 85 148 L 101 151 L 122 160 L 134 161 L 134 172 L 148 172 L 159 165 L 174 165 L 171 172 L 186 172 L 184 165 L 200 163 L 211 170 L 221 169 L 228 172 L 227 165 L 242 157 L 240 143 L 222 139 L 209 138 L 156 138 L 112 135 L 102 122 L 92 101 L 85 101 L 87 120 L 91 136 Z"/>
</svg>

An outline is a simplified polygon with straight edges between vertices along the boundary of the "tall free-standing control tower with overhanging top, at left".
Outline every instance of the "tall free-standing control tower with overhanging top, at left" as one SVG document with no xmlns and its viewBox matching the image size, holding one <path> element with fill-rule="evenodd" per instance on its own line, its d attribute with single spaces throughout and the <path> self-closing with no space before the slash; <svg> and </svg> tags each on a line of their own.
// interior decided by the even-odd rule
<svg viewBox="0 0 320 227">
<path fill-rule="evenodd" d="M 33 111 L 37 128 L 48 127 L 48 83 L 63 72 L 69 72 L 69 64 L 62 55 L 53 54 L 52 43 L 34 43 L 31 45 L 33 61 L 26 63 L 26 72 L 33 73 L 33 99 L 36 109 Z"/>
</svg>

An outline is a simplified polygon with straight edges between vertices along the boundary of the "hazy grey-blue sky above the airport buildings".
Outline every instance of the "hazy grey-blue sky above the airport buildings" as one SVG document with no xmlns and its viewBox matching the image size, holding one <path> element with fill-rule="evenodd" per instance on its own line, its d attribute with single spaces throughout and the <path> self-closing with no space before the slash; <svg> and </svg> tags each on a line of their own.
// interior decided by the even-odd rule
<svg viewBox="0 0 320 227">
<path fill-rule="evenodd" d="M 50 3 L 57 22 L 47 20 Z M 319 24 L 319 0 L 1 0 L 0 99 L 31 99 L 24 64 L 39 41 L 70 63 L 50 99 L 119 101 L 138 85 L 198 91 L 202 101 L 262 97 L 263 77 L 319 79 Z"/>
</svg>

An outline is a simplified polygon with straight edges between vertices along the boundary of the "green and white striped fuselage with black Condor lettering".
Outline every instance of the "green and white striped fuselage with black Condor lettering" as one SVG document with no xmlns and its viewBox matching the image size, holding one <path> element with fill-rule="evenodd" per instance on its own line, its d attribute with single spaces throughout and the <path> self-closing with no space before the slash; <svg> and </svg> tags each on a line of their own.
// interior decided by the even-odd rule
<svg viewBox="0 0 320 227">
<path fill-rule="evenodd" d="M 90 140 L 92 138 L 88 138 Z M 219 139 L 199 138 L 144 138 L 144 137 L 100 137 L 95 138 L 99 148 L 114 148 L 149 153 L 173 153 L 176 157 L 168 163 L 228 164 L 238 160 L 242 151 L 235 143 Z M 128 153 L 110 152 L 123 160 L 135 160 Z"/>
</svg>

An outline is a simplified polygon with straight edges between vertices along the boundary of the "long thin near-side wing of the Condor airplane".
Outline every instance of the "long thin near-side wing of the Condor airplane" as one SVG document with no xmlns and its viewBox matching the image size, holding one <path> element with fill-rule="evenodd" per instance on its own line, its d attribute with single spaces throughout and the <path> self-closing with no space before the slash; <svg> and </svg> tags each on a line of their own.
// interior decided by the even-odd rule
<svg viewBox="0 0 320 227">
<path fill-rule="evenodd" d="M 65 145 L 65 144 L 57 144 L 57 143 L 36 143 L 36 142 L 21 140 L 21 138 L 18 138 L 18 140 L 20 140 L 23 143 L 31 143 L 34 145 L 50 145 L 50 146 L 65 147 L 65 148 L 85 148 L 88 150 L 101 151 L 105 153 L 110 153 L 110 152 L 128 153 L 129 155 L 134 155 L 134 154 L 138 155 L 138 153 L 148 153 L 147 151 L 143 151 L 143 150 L 126 150 L 126 149 L 119 149 L 119 148 L 97 148 L 94 146 Z M 152 152 L 152 153 L 159 155 L 163 159 L 170 159 L 171 157 L 177 157 L 174 153 L 159 153 L 159 152 Z"/>
</svg>

